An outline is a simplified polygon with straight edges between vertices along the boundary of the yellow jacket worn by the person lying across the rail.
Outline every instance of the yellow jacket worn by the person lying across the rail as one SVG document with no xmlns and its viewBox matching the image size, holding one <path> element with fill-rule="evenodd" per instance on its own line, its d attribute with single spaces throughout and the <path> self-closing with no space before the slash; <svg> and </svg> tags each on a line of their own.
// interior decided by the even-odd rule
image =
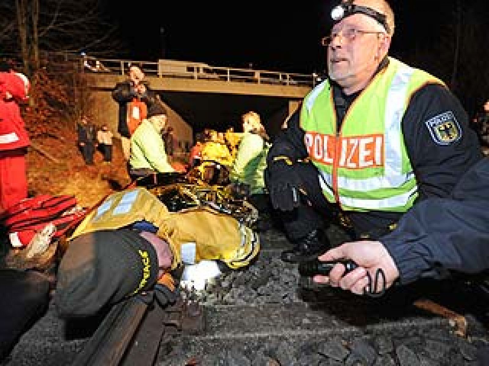
<svg viewBox="0 0 489 366">
<path fill-rule="evenodd" d="M 170 212 L 143 187 L 111 194 L 82 221 L 69 240 L 143 220 L 154 224 L 158 228 L 156 235 L 170 244 L 174 255 L 172 269 L 202 260 L 221 260 L 236 269 L 249 264 L 260 249 L 259 236 L 232 216 L 210 207 Z"/>
</svg>

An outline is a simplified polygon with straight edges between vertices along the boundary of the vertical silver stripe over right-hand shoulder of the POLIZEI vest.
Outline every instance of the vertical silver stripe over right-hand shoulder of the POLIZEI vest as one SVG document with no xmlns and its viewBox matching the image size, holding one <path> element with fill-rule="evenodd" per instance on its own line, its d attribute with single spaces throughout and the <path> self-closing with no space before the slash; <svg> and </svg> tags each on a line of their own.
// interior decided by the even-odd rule
<svg viewBox="0 0 489 366">
<path fill-rule="evenodd" d="M 400 175 L 402 172 L 401 121 L 404 115 L 409 78 L 413 72 L 412 67 L 399 62 L 398 71 L 387 93 L 384 116 L 385 176 Z"/>
</svg>

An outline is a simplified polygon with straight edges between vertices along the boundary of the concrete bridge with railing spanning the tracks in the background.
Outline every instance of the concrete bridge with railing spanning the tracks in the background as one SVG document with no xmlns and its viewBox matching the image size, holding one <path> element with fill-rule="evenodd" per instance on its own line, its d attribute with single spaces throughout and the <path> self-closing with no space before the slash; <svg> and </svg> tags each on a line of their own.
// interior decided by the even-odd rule
<svg viewBox="0 0 489 366">
<path fill-rule="evenodd" d="M 241 128 L 240 116 L 254 110 L 262 116 L 270 134 L 297 108 L 311 90 L 314 75 L 267 70 L 216 67 L 200 62 L 157 62 L 79 57 L 96 101 L 91 114 L 115 126 L 117 104 L 110 92 L 116 82 L 127 80 L 131 65 L 139 66 L 150 86 L 169 107 L 170 124 L 180 141 L 191 143 L 204 128 L 224 131 Z"/>
</svg>

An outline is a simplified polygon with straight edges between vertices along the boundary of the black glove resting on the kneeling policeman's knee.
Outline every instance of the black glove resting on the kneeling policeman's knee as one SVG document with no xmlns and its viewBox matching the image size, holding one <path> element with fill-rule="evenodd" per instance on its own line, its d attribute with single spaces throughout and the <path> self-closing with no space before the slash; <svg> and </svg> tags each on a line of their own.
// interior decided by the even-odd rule
<svg viewBox="0 0 489 366">
<path fill-rule="evenodd" d="M 277 159 L 277 158 L 276 158 Z M 299 207 L 302 180 L 288 158 L 267 166 L 267 188 L 273 208 L 291 211 Z"/>
</svg>

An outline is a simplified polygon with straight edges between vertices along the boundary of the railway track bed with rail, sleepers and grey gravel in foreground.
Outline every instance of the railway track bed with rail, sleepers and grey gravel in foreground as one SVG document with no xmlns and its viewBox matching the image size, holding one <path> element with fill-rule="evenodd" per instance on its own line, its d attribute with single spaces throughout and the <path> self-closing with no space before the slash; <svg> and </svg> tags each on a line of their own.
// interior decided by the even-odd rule
<svg viewBox="0 0 489 366">
<path fill-rule="evenodd" d="M 331 235 L 341 240 L 339 230 Z M 358 297 L 311 285 L 296 265 L 280 261 L 288 245 L 281 233 L 261 236 L 262 251 L 249 268 L 224 272 L 205 291 L 182 292 L 170 308 L 134 298 L 113 307 L 93 333 L 70 337 L 50 309 L 5 366 L 477 365 L 477 349 L 489 336 L 468 286 Z M 465 333 L 457 334 L 458 323 L 446 314 L 414 305 L 420 291 L 459 314 Z M 444 302 L 446 291 L 456 301 Z"/>
</svg>

